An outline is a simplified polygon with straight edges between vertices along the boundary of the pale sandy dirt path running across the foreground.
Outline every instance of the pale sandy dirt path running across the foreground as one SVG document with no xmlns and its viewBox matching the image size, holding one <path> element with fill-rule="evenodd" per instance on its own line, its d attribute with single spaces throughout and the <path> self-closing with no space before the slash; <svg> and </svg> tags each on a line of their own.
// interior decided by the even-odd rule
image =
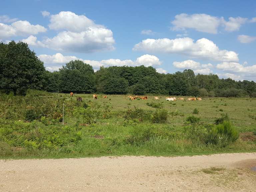
<svg viewBox="0 0 256 192">
<path fill-rule="evenodd" d="M 255 166 L 256 153 L 0 160 L 0 191 L 255 192 Z"/>
</svg>

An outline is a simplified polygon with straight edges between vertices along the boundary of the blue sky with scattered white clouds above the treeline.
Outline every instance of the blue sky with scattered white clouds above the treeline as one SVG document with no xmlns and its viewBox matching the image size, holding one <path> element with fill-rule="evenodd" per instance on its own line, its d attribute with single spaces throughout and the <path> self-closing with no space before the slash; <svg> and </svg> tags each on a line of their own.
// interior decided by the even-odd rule
<svg viewBox="0 0 256 192">
<path fill-rule="evenodd" d="M 256 81 L 255 31 L 251 0 L 0 2 L 0 41 L 28 43 L 49 71 L 80 59 Z"/>
</svg>

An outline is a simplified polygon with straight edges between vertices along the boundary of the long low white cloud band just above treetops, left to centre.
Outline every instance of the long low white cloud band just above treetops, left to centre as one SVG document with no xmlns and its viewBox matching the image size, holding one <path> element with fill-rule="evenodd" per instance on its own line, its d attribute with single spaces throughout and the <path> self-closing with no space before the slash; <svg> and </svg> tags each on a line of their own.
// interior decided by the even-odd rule
<svg viewBox="0 0 256 192">
<path fill-rule="evenodd" d="M 161 61 L 154 55 L 142 55 L 138 57 L 135 61 L 130 59 L 120 60 L 120 59 L 107 59 L 101 61 L 94 60 L 84 60 L 78 58 L 76 56 L 64 56 L 61 53 L 56 53 L 55 55 L 39 55 L 39 59 L 41 59 L 45 64 L 65 64 L 71 60 L 81 60 L 85 63 L 90 64 L 94 68 L 99 68 L 100 66 L 139 66 L 144 65 L 148 66 L 157 66 L 161 65 Z"/>
</svg>

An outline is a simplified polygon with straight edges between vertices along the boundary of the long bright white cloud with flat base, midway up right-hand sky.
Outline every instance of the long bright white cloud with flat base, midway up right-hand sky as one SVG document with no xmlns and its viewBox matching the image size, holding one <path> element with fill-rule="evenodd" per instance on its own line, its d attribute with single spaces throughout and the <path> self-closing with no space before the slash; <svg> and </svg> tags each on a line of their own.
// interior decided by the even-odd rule
<svg viewBox="0 0 256 192">
<path fill-rule="evenodd" d="M 215 61 L 238 61 L 234 51 L 220 50 L 212 41 L 202 38 L 195 43 L 188 37 L 176 39 L 145 39 L 133 47 L 134 51 L 179 53 L 191 58 Z"/>
</svg>

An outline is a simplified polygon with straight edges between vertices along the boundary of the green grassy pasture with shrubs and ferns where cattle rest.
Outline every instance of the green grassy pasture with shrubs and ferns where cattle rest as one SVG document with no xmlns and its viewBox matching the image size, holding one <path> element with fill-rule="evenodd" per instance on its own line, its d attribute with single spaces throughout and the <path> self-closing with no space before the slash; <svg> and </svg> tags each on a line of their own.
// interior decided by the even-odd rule
<svg viewBox="0 0 256 192">
<path fill-rule="evenodd" d="M 82 97 L 77 102 L 76 97 Z M 0 158 L 64 158 L 113 155 L 196 155 L 256 151 L 256 99 L 202 98 L 166 101 L 153 95 L 47 93 L 0 97 Z M 178 98 L 178 97 L 176 97 Z M 184 97 L 185 99 L 187 97 Z M 64 103 L 64 125 L 62 107 Z M 155 108 L 157 107 L 157 108 Z M 197 112 L 193 111 L 197 109 Z M 198 113 L 198 114 L 196 114 Z M 228 114 L 238 139 L 218 129 Z M 200 118 L 189 122 L 187 117 Z M 165 119 L 167 118 L 167 119 Z M 160 120 L 159 120 L 160 119 Z"/>
</svg>

